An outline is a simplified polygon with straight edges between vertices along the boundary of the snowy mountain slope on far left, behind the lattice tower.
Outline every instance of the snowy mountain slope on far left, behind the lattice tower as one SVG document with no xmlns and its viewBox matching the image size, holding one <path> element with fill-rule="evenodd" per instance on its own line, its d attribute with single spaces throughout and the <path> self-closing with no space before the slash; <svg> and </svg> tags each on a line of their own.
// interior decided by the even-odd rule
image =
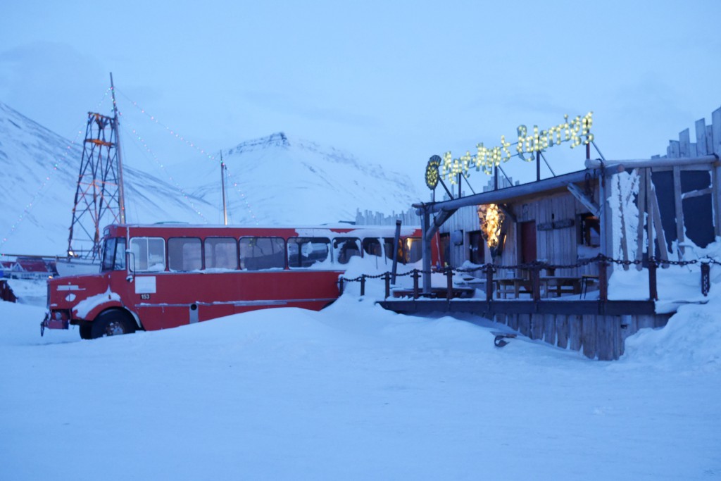
<svg viewBox="0 0 721 481">
<path fill-rule="evenodd" d="M 68 141 L 0 103 L 1 253 L 65 252 L 81 144 L 82 138 Z M 128 221 L 190 220 L 195 215 L 176 187 L 127 166 L 125 204 Z"/>
</svg>

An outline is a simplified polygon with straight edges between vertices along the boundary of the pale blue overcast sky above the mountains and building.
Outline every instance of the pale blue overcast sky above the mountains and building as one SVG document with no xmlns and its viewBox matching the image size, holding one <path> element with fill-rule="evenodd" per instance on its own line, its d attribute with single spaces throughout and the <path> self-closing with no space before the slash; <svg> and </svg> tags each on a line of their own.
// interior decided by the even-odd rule
<svg viewBox="0 0 721 481">
<path fill-rule="evenodd" d="M 5 2 L 0 102 L 72 139 L 112 71 L 167 163 L 196 154 L 125 97 L 204 149 L 284 131 L 419 183 L 430 155 L 589 110 L 606 158 L 647 158 L 721 107 L 720 20 L 714 0 Z"/>
</svg>

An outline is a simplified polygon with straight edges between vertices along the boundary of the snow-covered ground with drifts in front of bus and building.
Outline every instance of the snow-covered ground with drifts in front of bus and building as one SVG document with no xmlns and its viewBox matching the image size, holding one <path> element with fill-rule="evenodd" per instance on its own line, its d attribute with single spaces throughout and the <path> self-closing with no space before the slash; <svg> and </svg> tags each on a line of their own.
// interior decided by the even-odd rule
<svg viewBox="0 0 721 481">
<path fill-rule="evenodd" d="M 614 362 L 357 288 L 98 340 L 0 302 L 0 480 L 721 478 L 719 285 Z"/>
</svg>

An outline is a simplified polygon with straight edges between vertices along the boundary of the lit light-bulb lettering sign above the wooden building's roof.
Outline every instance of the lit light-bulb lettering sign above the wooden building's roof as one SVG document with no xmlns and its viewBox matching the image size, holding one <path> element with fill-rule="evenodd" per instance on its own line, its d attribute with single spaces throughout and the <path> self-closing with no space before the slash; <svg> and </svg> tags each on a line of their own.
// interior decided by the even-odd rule
<svg viewBox="0 0 721 481">
<path fill-rule="evenodd" d="M 568 115 L 564 115 L 564 122 L 552 127 L 539 131 L 538 125 L 534 125 L 533 131 L 528 132 L 526 125 L 518 125 L 518 141 L 514 144 L 505 140 L 505 136 L 500 136 L 500 146 L 486 147 L 483 143 L 476 146 L 477 152 L 471 155 L 466 151 L 465 155 L 454 159 L 451 152 L 443 155 L 441 162 L 441 178 L 445 177 L 451 184 L 456 183 L 456 177 L 459 174 L 468 175 L 469 170 L 475 167 L 476 170 L 483 170 L 486 174 L 492 172 L 493 167 L 500 165 L 501 162 L 508 162 L 512 156 L 518 156 L 526 162 L 535 160 L 535 153 L 544 151 L 549 147 L 570 142 L 571 148 L 578 147 L 581 144 L 588 145 L 593 141 L 593 133 L 590 132 L 593 125 L 593 112 L 588 112 L 581 117 L 569 120 Z M 515 150 L 515 153 L 511 151 Z M 526 154 L 530 154 L 526 156 Z M 428 177 L 428 172 L 426 172 Z M 430 185 L 428 186 L 430 187 Z"/>
</svg>

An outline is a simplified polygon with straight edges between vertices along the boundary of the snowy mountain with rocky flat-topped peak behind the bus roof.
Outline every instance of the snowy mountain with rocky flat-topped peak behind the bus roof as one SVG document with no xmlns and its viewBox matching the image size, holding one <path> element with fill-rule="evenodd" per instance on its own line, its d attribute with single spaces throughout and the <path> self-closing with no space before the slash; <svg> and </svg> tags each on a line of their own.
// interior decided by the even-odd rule
<svg viewBox="0 0 721 481">
<path fill-rule="evenodd" d="M 234 224 L 348 221 L 357 209 L 405 211 L 419 198 L 407 175 L 283 132 L 238 144 L 224 151 L 223 160 Z M 198 186 L 193 195 L 218 205 L 218 163 L 186 162 L 178 170 L 184 185 Z"/>
</svg>

